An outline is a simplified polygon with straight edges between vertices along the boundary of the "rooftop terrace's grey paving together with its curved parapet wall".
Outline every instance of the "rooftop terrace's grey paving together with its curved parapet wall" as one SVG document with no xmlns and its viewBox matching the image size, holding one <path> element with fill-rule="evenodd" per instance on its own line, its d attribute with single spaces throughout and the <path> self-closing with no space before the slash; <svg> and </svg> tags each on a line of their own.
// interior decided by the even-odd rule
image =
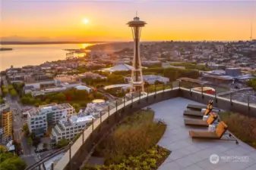
<svg viewBox="0 0 256 170">
<path fill-rule="evenodd" d="M 242 141 L 239 141 L 239 144 L 235 144 L 235 141 L 222 140 L 192 141 L 189 137 L 188 131 L 191 128 L 185 127 L 182 114 L 186 109 L 186 105 L 198 104 L 193 100 L 201 104 L 207 104 L 207 101 L 212 99 L 214 100 L 213 107 L 231 110 L 247 116 L 256 116 L 256 107 L 253 104 L 245 104 L 211 94 L 201 94 L 198 91 L 190 91 L 186 88 L 169 88 L 163 91 L 155 91 L 136 97 L 133 100 L 126 100 L 125 103 L 109 110 L 108 114 L 103 114 L 102 119 L 96 119 L 93 125 L 85 129 L 83 135 L 72 144 L 71 152 L 65 153 L 65 156 L 57 163 L 54 169 L 79 168 L 84 160 L 87 160 L 87 157 L 90 156 L 88 153 L 92 150 L 93 142 L 99 141 L 112 128 L 112 125 L 119 122 L 123 116 L 148 106 L 155 110 L 156 118 L 163 119 L 168 125 L 166 133 L 159 144 L 171 150 L 172 153 L 160 166 L 160 170 L 255 169 L 256 151 Z M 200 130 L 207 131 L 207 128 L 201 128 Z M 248 156 L 248 162 L 223 162 L 220 157 L 220 162 L 215 165 L 209 161 L 212 154 L 217 154 L 218 156 Z"/>
</svg>

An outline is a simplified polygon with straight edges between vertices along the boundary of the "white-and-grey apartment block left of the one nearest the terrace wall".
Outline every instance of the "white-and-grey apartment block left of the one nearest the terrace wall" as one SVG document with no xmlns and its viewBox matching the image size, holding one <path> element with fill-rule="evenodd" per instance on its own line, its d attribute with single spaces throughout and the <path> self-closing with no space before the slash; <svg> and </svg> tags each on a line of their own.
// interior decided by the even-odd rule
<svg viewBox="0 0 256 170">
<path fill-rule="evenodd" d="M 70 104 L 47 104 L 27 111 L 27 125 L 30 132 L 43 135 L 48 124 L 56 124 L 62 118 L 62 113 L 71 116 L 75 114 Z"/>
</svg>

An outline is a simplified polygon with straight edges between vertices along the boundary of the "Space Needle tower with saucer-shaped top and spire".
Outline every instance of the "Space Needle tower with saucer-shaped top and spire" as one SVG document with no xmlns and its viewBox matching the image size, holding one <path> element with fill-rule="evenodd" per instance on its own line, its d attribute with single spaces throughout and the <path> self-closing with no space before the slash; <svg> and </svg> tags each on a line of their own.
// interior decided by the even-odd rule
<svg viewBox="0 0 256 170">
<path fill-rule="evenodd" d="M 133 91 L 140 91 L 144 93 L 144 82 L 141 69 L 141 57 L 140 57 L 140 37 L 141 28 L 147 23 L 140 20 L 139 17 L 134 17 L 134 20 L 129 21 L 128 26 L 131 27 L 132 36 L 134 39 L 134 58 L 132 61 L 131 69 L 131 89 L 130 93 Z"/>
</svg>

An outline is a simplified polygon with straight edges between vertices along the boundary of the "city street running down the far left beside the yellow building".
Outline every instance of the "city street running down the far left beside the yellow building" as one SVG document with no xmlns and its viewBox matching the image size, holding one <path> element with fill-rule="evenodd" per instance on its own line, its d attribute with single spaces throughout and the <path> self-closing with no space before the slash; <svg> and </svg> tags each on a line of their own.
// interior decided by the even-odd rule
<svg viewBox="0 0 256 170">
<path fill-rule="evenodd" d="M 8 87 L 8 82 L 5 79 L 5 76 L 2 77 L 3 84 Z M 6 95 L 6 103 L 10 105 L 10 109 L 12 111 L 13 116 L 13 131 L 14 131 L 14 141 L 21 143 L 21 148 L 25 155 L 33 153 L 32 147 L 27 144 L 27 138 L 24 137 L 22 132 L 23 127 L 23 119 L 22 119 L 22 110 L 20 104 L 17 103 L 19 97 L 12 98 L 10 94 Z"/>
</svg>

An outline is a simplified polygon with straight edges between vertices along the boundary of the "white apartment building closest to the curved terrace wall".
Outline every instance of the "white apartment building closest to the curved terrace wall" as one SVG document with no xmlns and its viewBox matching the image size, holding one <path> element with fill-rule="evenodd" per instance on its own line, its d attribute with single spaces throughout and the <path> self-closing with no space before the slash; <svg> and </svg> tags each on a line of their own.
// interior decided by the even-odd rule
<svg viewBox="0 0 256 170">
<path fill-rule="evenodd" d="M 62 119 L 52 128 L 51 139 L 55 143 L 62 139 L 71 141 L 77 134 L 81 133 L 83 129 L 94 119 L 93 116 L 79 115 L 68 117 L 63 113 Z"/>
</svg>

